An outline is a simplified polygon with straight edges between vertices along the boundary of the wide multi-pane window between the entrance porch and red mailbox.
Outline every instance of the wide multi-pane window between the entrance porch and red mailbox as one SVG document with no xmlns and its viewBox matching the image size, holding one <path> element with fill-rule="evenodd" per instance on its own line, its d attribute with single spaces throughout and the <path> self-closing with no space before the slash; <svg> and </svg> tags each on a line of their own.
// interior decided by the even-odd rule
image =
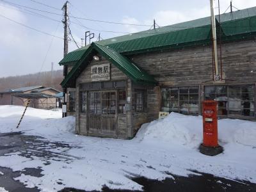
<svg viewBox="0 0 256 192">
<path fill-rule="evenodd" d="M 186 115 L 198 115 L 198 86 L 162 88 L 161 110 Z"/>
</svg>

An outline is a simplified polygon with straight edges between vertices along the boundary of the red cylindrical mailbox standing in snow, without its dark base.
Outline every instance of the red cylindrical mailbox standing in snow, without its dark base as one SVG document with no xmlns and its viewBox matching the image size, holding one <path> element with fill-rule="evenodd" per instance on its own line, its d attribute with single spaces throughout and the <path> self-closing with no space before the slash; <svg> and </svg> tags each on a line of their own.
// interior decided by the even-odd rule
<svg viewBox="0 0 256 192">
<path fill-rule="evenodd" d="M 203 102 L 203 125 L 205 147 L 218 147 L 218 119 L 217 105 L 215 100 L 205 100 Z"/>
</svg>

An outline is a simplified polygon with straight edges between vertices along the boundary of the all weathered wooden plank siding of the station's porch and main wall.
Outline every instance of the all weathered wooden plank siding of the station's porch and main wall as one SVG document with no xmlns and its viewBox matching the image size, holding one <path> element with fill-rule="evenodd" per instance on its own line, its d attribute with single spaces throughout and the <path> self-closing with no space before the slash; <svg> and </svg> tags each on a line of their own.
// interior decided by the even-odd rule
<svg viewBox="0 0 256 192">
<path fill-rule="evenodd" d="M 253 40 L 232 42 L 222 45 L 222 65 L 225 82 L 221 84 L 255 84 L 256 83 L 256 43 Z M 220 49 L 218 49 L 220 50 Z M 220 51 L 218 55 L 220 59 Z M 204 86 L 216 84 L 212 82 L 212 49 L 211 47 L 195 47 L 175 51 L 148 52 L 129 56 L 138 67 L 154 76 L 159 83 L 157 86 L 141 86 L 132 83 L 131 79 L 121 72 L 115 65 L 110 64 L 111 81 L 125 80 L 127 97 L 131 98 L 131 111 L 126 115 L 117 116 L 117 135 L 115 138 L 133 138 L 141 125 L 158 118 L 161 110 L 161 87 L 198 86 L 199 108 L 204 100 Z M 79 85 L 91 83 L 91 67 L 108 63 L 91 61 L 76 79 L 76 132 L 84 135 L 104 136 L 88 133 L 88 116 L 80 112 Z M 220 61 L 219 61 L 220 64 Z M 68 67 L 70 71 L 71 67 Z M 221 69 L 219 68 L 221 72 Z M 144 89 L 147 92 L 147 106 L 145 111 L 136 112 L 134 109 L 134 92 Z M 68 88 L 68 91 L 74 90 Z M 201 111 L 201 110 L 199 110 Z M 199 112 L 200 114 L 200 112 Z M 72 115 L 72 114 L 70 114 Z M 74 115 L 74 114 L 73 114 Z"/>
</svg>

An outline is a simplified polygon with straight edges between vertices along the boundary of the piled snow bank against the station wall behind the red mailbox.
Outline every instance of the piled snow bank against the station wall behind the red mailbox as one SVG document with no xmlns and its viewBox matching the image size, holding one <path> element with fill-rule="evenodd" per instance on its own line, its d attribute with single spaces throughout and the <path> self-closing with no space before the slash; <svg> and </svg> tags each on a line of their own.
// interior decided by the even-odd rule
<svg viewBox="0 0 256 192">
<path fill-rule="evenodd" d="M 202 116 L 170 113 L 163 120 L 143 125 L 136 138 L 145 143 L 168 143 L 195 148 L 202 143 Z M 218 120 L 221 143 L 239 143 L 256 147 L 256 122 L 244 120 Z"/>
</svg>

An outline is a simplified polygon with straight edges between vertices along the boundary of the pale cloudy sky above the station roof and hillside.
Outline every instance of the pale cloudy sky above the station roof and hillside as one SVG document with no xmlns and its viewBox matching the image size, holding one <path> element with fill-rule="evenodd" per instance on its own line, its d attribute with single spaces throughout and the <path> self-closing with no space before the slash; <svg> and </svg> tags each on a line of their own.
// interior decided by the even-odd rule
<svg viewBox="0 0 256 192">
<path fill-rule="evenodd" d="M 35 1 L 49 6 L 44 6 Z M 63 19 L 61 8 L 65 1 L 35 1 L 0 0 L 0 77 L 51 70 L 51 62 L 54 63 L 54 70 L 61 68 L 58 62 L 63 58 L 63 40 L 33 31 L 4 18 L 8 17 L 31 28 L 63 38 L 63 24 L 58 21 Z M 151 25 L 153 19 L 156 19 L 159 26 L 166 26 L 210 15 L 209 0 L 69 0 L 69 2 L 71 16 L 132 24 Z M 10 3 L 57 14 L 29 10 Z M 229 4 L 230 0 L 220 0 L 221 13 L 225 12 Z M 216 4 L 216 6 L 218 5 Z M 256 0 L 233 0 L 233 6 L 238 9 L 256 6 Z M 234 8 L 234 10 L 236 9 Z M 218 10 L 216 9 L 216 11 Z M 46 19 L 42 15 L 54 20 Z M 134 33 L 149 29 L 147 26 L 106 24 L 70 18 L 70 29 L 79 45 L 81 45 L 81 38 L 84 38 L 84 31 L 88 31 L 86 28 L 79 26 L 79 22 L 80 25 L 82 24 L 86 28 L 99 31 Z M 124 35 L 122 33 L 91 31 L 95 33 L 95 36 L 100 33 L 100 36 L 104 39 Z M 76 45 L 69 42 L 68 51 L 74 49 L 77 49 Z"/>
</svg>

